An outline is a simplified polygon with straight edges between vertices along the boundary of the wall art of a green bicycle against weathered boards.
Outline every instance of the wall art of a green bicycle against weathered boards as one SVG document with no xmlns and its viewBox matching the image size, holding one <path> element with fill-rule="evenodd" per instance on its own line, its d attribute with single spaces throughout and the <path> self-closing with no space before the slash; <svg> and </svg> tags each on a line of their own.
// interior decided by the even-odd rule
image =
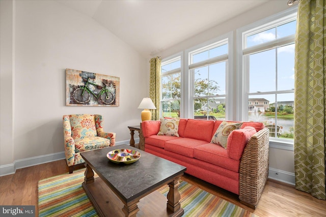
<svg viewBox="0 0 326 217">
<path fill-rule="evenodd" d="M 67 106 L 119 106 L 120 78 L 66 69 Z"/>
</svg>

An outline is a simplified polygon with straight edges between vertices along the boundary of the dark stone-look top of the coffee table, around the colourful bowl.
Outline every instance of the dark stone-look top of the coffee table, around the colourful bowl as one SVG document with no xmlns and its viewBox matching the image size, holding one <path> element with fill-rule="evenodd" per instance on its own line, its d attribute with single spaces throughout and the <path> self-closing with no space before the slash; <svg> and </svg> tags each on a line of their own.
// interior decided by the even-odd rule
<svg viewBox="0 0 326 217">
<path fill-rule="evenodd" d="M 141 153 L 141 158 L 132 164 L 116 164 L 107 159 L 106 154 L 115 149 L 133 149 Z M 125 202 L 142 197 L 148 192 L 180 176 L 186 167 L 154 156 L 129 145 L 85 151 L 80 153 L 88 165 Z"/>
</svg>

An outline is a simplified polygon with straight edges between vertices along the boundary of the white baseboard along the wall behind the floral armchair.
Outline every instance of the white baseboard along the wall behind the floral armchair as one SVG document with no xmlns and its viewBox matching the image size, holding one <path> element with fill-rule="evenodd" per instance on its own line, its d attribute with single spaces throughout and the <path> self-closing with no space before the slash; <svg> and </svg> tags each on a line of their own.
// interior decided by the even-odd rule
<svg viewBox="0 0 326 217">
<path fill-rule="evenodd" d="M 135 143 L 139 142 L 139 138 L 135 138 Z M 122 145 L 122 144 L 129 144 L 130 140 L 124 140 L 116 142 L 116 145 Z M 16 172 L 16 169 L 21 169 L 25 167 L 31 167 L 39 164 L 45 164 L 52 161 L 59 161 L 62 159 L 66 159 L 65 152 L 57 152 L 57 153 L 51 153 L 51 154 L 45 154 L 42 156 L 37 156 L 33 158 L 25 158 L 21 160 L 14 161 L 13 164 L 7 164 L 0 166 L 0 176 L 10 175 L 14 174 Z"/>
</svg>

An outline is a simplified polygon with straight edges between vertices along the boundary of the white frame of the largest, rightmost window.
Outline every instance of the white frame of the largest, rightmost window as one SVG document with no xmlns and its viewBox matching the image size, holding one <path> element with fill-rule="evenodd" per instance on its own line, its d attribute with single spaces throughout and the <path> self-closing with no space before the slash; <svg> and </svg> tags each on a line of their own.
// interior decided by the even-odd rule
<svg viewBox="0 0 326 217">
<path fill-rule="evenodd" d="M 237 103 L 237 111 L 236 116 L 238 119 L 248 120 L 248 101 L 249 96 L 257 96 L 260 95 L 268 95 L 268 94 L 282 94 L 282 93 L 291 93 L 293 91 L 289 90 L 276 90 L 276 91 L 269 91 L 269 92 L 257 92 L 257 93 L 250 93 L 249 92 L 249 55 L 253 53 L 258 53 L 270 49 L 275 49 L 276 47 L 286 46 L 289 44 L 295 43 L 294 35 L 286 36 L 283 38 L 275 39 L 271 42 L 265 42 L 262 45 L 255 45 L 249 48 L 245 48 L 246 45 L 245 40 L 246 37 L 249 35 L 257 34 L 262 32 L 263 30 L 270 29 L 274 27 L 276 24 L 277 26 L 290 22 L 291 19 L 296 19 L 297 14 L 297 6 L 292 7 L 286 11 L 281 13 L 275 14 L 273 16 L 267 17 L 265 19 L 259 20 L 247 26 L 243 26 L 236 30 L 236 41 L 237 41 L 237 48 L 236 48 L 236 55 L 237 55 L 237 93 L 236 93 L 236 103 Z M 247 59 L 246 59 L 247 58 Z M 277 82 L 277 81 L 276 81 Z M 277 99 L 276 99 L 277 101 Z M 270 147 L 286 149 L 286 150 L 293 150 L 293 141 L 288 139 L 281 139 L 281 138 L 273 138 L 270 137 L 269 145 Z"/>
</svg>

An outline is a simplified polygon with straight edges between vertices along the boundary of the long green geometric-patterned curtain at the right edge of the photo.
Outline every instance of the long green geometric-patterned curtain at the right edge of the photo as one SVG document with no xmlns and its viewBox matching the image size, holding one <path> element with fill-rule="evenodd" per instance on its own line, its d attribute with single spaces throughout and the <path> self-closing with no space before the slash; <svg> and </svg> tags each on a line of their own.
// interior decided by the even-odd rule
<svg viewBox="0 0 326 217">
<path fill-rule="evenodd" d="M 325 1 L 300 0 L 295 36 L 295 188 L 326 199 Z"/>
</svg>

